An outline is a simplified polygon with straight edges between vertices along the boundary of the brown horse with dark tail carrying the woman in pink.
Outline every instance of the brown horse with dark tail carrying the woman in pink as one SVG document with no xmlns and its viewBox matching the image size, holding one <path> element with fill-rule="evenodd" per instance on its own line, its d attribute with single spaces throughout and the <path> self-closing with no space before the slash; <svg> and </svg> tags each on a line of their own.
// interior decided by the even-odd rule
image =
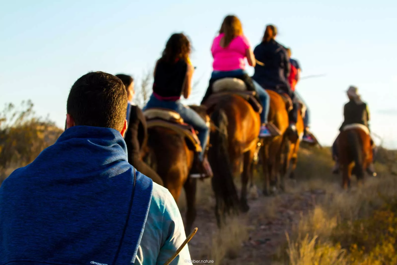
<svg viewBox="0 0 397 265">
<path fill-rule="evenodd" d="M 208 106 L 213 123 L 208 161 L 214 173 L 212 188 L 216 197 L 216 220 L 220 227 L 225 222 L 225 213 L 249 210 L 247 184 L 252 174 L 260 117 L 246 99 L 231 91 L 221 96 L 214 94 L 204 104 Z M 235 174 L 241 174 L 240 200 L 233 182 Z"/>
</svg>

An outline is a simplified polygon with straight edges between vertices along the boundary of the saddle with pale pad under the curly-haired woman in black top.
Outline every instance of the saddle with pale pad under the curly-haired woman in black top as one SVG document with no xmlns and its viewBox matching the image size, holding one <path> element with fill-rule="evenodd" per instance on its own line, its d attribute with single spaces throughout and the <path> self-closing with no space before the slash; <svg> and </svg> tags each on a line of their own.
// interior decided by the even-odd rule
<svg viewBox="0 0 397 265">
<path fill-rule="evenodd" d="M 148 129 L 152 127 L 163 127 L 173 130 L 187 141 L 189 149 L 201 152 L 200 140 L 193 127 L 186 124 L 181 115 L 174 110 L 166 108 L 148 108 L 143 112 Z"/>
</svg>

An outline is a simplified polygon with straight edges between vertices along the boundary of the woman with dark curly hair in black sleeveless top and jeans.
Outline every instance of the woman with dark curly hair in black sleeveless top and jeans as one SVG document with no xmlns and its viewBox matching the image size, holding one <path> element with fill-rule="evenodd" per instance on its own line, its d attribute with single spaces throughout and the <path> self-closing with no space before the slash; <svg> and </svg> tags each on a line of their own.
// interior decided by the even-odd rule
<svg viewBox="0 0 397 265">
<path fill-rule="evenodd" d="M 197 136 L 202 147 L 199 158 L 202 161 L 205 173 L 210 176 L 212 174 L 210 164 L 204 158 L 210 129 L 197 112 L 184 106 L 179 100 L 181 95 L 187 99 L 192 89 L 194 67 L 189 60 L 190 52 L 189 39 L 183 33 L 175 33 L 170 37 L 154 68 L 153 93 L 144 109 L 167 108 L 175 110 L 181 115 L 184 122 L 198 131 Z M 191 176 L 195 177 L 199 174 Z"/>
</svg>

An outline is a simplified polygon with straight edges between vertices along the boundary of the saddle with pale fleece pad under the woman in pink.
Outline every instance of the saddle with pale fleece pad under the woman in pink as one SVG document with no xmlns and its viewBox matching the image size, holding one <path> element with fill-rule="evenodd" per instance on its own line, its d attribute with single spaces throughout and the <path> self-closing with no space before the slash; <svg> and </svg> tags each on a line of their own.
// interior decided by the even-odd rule
<svg viewBox="0 0 397 265">
<path fill-rule="evenodd" d="M 262 105 L 254 97 L 255 91 L 248 91 L 244 81 L 234 77 L 225 77 L 216 80 L 212 85 L 212 95 L 204 102 L 208 110 L 212 108 L 226 95 L 238 95 L 245 99 L 254 109 L 254 111 L 261 113 Z"/>
</svg>

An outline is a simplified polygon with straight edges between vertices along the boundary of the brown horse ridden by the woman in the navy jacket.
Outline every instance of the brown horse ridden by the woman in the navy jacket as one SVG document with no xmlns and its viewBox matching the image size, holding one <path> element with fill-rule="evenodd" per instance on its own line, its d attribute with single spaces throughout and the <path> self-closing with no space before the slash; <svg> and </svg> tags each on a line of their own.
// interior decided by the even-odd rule
<svg viewBox="0 0 397 265">
<path fill-rule="evenodd" d="M 288 112 L 284 99 L 273 90 L 266 89 L 270 96 L 270 107 L 268 120 L 272 122 L 281 132 L 281 135 L 265 138 L 262 142 L 260 155 L 262 156 L 262 168 L 264 176 L 264 195 L 271 194 L 271 186 L 277 184 L 277 188 L 284 189 L 281 181 L 280 170 L 282 165 L 282 154 L 286 143 L 285 132 L 289 126 Z"/>
</svg>

